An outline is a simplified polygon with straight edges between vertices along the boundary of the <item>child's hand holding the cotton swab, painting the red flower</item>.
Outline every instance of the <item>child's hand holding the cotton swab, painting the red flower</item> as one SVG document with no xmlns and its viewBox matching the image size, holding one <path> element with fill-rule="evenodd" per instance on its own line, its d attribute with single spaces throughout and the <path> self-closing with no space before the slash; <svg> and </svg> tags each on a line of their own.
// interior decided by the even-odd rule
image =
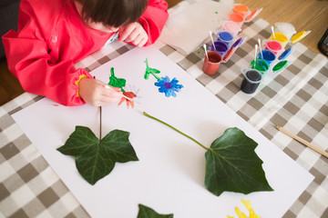
<svg viewBox="0 0 328 218">
<path fill-rule="evenodd" d="M 87 104 L 94 106 L 118 102 L 122 96 L 120 88 L 110 86 L 108 89 L 105 85 L 97 79 L 84 78 L 78 84 L 78 94 Z"/>
</svg>

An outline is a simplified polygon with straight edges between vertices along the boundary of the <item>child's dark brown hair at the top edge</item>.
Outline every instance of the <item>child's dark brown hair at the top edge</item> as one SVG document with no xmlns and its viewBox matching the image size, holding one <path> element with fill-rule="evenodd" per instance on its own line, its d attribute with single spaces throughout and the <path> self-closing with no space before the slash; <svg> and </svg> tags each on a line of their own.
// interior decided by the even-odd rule
<svg viewBox="0 0 328 218">
<path fill-rule="evenodd" d="M 148 0 L 77 0 L 82 18 L 113 27 L 136 22 L 144 13 Z"/>
</svg>

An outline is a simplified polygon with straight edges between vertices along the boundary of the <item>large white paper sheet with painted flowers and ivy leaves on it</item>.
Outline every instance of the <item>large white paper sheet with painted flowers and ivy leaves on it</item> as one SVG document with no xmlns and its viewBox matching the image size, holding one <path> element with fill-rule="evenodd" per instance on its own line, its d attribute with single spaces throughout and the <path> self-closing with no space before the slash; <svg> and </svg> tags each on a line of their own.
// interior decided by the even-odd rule
<svg viewBox="0 0 328 218">
<path fill-rule="evenodd" d="M 184 85 L 177 97 L 160 94 L 151 75 L 149 80 L 144 79 L 146 58 L 149 67 L 161 71 L 160 76 L 176 77 L 179 84 Z M 313 175 L 155 47 L 135 48 L 98 67 L 92 74 L 108 83 L 111 67 L 115 68 L 117 77 L 127 79 L 127 87 L 139 88 L 140 98 L 136 98 L 139 104 L 135 109 L 128 109 L 126 104 L 104 106 L 102 135 L 114 129 L 130 132 L 129 140 L 139 161 L 117 163 L 113 171 L 94 186 L 77 173 L 74 158 L 60 154 L 56 148 L 65 144 L 76 125 L 88 126 L 98 135 L 98 108 L 55 106 L 56 103 L 45 98 L 13 115 L 92 217 L 137 217 L 138 203 L 158 213 L 174 213 L 175 218 L 226 217 L 236 215 L 235 206 L 247 212 L 241 198 L 251 200 L 261 217 L 282 217 L 313 180 Z M 227 128 L 237 126 L 259 144 L 255 151 L 264 162 L 266 178 L 274 191 L 213 195 L 204 186 L 205 149 L 144 116 L 142 111 L 206 146 Z"/>
</svg>

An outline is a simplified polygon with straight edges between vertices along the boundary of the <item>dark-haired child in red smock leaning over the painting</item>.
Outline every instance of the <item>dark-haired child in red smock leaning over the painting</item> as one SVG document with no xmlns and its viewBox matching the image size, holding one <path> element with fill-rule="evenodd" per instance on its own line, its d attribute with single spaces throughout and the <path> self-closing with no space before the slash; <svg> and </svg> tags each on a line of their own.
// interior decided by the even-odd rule
<svg viewBox="0 0 328 218">
<path fill-rule="evenodd" d="M 26 92 L 59 104 L 113 103 L 120 90 L 106 88 L 74 63 L 117 34 L 132 45 L 153 44 L 167 8 L 165 0 L 22 0 L 17 32 L 3 36 L 8 68 Z"/>
</svg>

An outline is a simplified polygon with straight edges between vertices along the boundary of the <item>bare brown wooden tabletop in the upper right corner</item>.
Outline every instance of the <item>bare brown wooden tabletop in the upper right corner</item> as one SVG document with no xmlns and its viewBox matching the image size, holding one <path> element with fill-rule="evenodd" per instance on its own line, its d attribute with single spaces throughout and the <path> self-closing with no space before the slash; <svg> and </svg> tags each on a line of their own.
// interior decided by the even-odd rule
<svg viewBox="0 0 328 218">
<path fill-rule="evenodd" d="M 235 2 L 247 5 L 251 11 L 262 7 L 263 10 L 259 17 L 271 25 L 276 22 L 286 22 L 294 25 L 297 32 L 311 30 L 311 35 L 302 39 L 302 44 L 311 51 L 320 53 L 317 45 L 328 29 L 328 1 L 236 0 Z"/>
</svg>

